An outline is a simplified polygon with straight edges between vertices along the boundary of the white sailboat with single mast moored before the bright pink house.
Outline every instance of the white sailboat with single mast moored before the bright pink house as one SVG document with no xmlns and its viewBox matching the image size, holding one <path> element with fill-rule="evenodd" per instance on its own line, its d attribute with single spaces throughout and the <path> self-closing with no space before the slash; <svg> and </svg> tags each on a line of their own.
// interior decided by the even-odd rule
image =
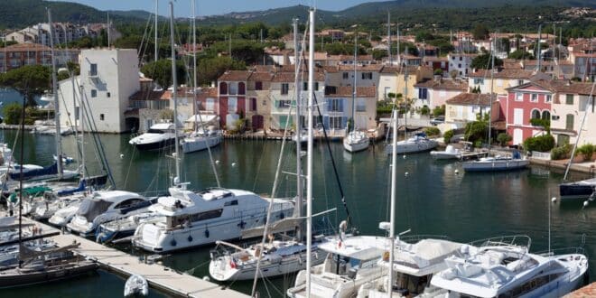
<svg viewBox="0 0 596 298">
<path fill-rule="evenodd" d="M 493 47 L 494 49 L 494 47 Z M 490 69 L 490 107 L 492 107 L 492 98 L 495 96 L 493 91 L 493 85 L 495 82 L 494 73 L 495 73 L 495 55 L 494 53 L 490 54 L 491 58 L 491 69 Z M 492 108 L 490 110 L 490 115 L 492 115 Z M 490 143 L 491 143 L 491 125 L 492 119 L 489 116 L 489 152 L 490 152 Z M 530 161 L 522 155 L 515 151 L 512 156 L 488 156 L 482 157 L 476 161 L 464 162 L 462 163 L 463 170 L 466 172 L 497 172 L 497 171 L 512 171 L 512 170 L 521 170 L 525 169 L 530 164 Z"/>
</svg>

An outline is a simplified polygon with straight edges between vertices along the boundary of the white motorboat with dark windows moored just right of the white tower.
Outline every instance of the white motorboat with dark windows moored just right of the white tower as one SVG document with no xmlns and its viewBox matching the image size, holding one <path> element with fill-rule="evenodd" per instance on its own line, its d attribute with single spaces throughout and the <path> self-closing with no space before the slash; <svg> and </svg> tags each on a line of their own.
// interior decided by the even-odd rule
<svg viewBox="0 0 596 298">
<path fill-rule="evenodd" d="M 137 135 L 128 141 L 138 150 L 159 150 L 172 146 L 176 138 L 176 129 L 173 123 L 158 123 L 151 126 L 143 135 Z"/>
</svg>

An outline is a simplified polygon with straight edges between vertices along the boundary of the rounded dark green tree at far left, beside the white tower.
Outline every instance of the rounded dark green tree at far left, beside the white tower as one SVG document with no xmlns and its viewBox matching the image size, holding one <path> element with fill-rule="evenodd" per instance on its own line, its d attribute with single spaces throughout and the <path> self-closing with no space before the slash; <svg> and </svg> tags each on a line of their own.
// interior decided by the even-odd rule
<svg viewBox="0 0 596 298">
<path fill-rule="evenodd" d="M 51 70 L 42 65 L 25 65 L 0 74 L 0 86 L 13 88 L 27 98 L 27 106 L 36 106 L 35 96 L 49 89 Z"/>
</svg>

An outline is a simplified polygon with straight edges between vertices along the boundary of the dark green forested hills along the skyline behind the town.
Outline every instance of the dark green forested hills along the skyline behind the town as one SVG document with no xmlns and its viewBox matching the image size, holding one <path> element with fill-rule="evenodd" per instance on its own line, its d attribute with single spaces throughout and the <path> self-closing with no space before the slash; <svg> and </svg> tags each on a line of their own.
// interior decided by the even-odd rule
<svg viewBox="0 0 596 298">
<path fill-rule="evenodd" d="M 396 0 L 369 2 L 340 11 L 317 11 L 317 22 L 323 26 L 347 27 L 354 23 L 382 23 L 386 12 L 401 23 L 427 24 L 445 28 L 465 28 L 466 23 L 489 22 L 520 25 L 518 20 L 541 15 L 547 20 L 559 21 L 563 7 L 596 7 L 593 0 Z M 34 23 L 46 22 L 46 7 L 50 7 L 56 22 L 95 23 L 106 22 L 107 12 L 87 5 L 70 2 L 42 0 L 0 1 L 0 29 L 23 28 Z M 200 24 L 234 24 L 263 22 L 289 23 L 294 16 L 305 18 L 308 7 L 304 5 L 240 12 L 202 17 Z M 151 13 L 142 10 L 111 11 L 114 23 L 143 23 Z M 594 17 L 594 15 L 591 15 Z M 509 18 L 508 20 L 506 18 Z M 533 25 L 527 23 L 526 25 Z"/>
</svg>

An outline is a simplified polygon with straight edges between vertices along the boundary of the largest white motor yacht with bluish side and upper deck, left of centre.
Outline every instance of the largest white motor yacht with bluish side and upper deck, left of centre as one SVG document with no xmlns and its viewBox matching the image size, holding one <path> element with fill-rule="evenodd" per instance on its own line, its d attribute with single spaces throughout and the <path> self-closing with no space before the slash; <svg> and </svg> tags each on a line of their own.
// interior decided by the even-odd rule
<svg viewBox="0 0 596 298">
<path fill-rule="evenodd" d="M 242 231 L 265 224 L 269 204 L 275 221 L 290 216 L 293 201 L 270 199 L 250 191 L 208 189 L 193 192 L 181 184 L 170 188 L 149 210 L 159 213 L 135 230 L 133 245 L 155 253 L 239 238 Z"/>
</svg>

